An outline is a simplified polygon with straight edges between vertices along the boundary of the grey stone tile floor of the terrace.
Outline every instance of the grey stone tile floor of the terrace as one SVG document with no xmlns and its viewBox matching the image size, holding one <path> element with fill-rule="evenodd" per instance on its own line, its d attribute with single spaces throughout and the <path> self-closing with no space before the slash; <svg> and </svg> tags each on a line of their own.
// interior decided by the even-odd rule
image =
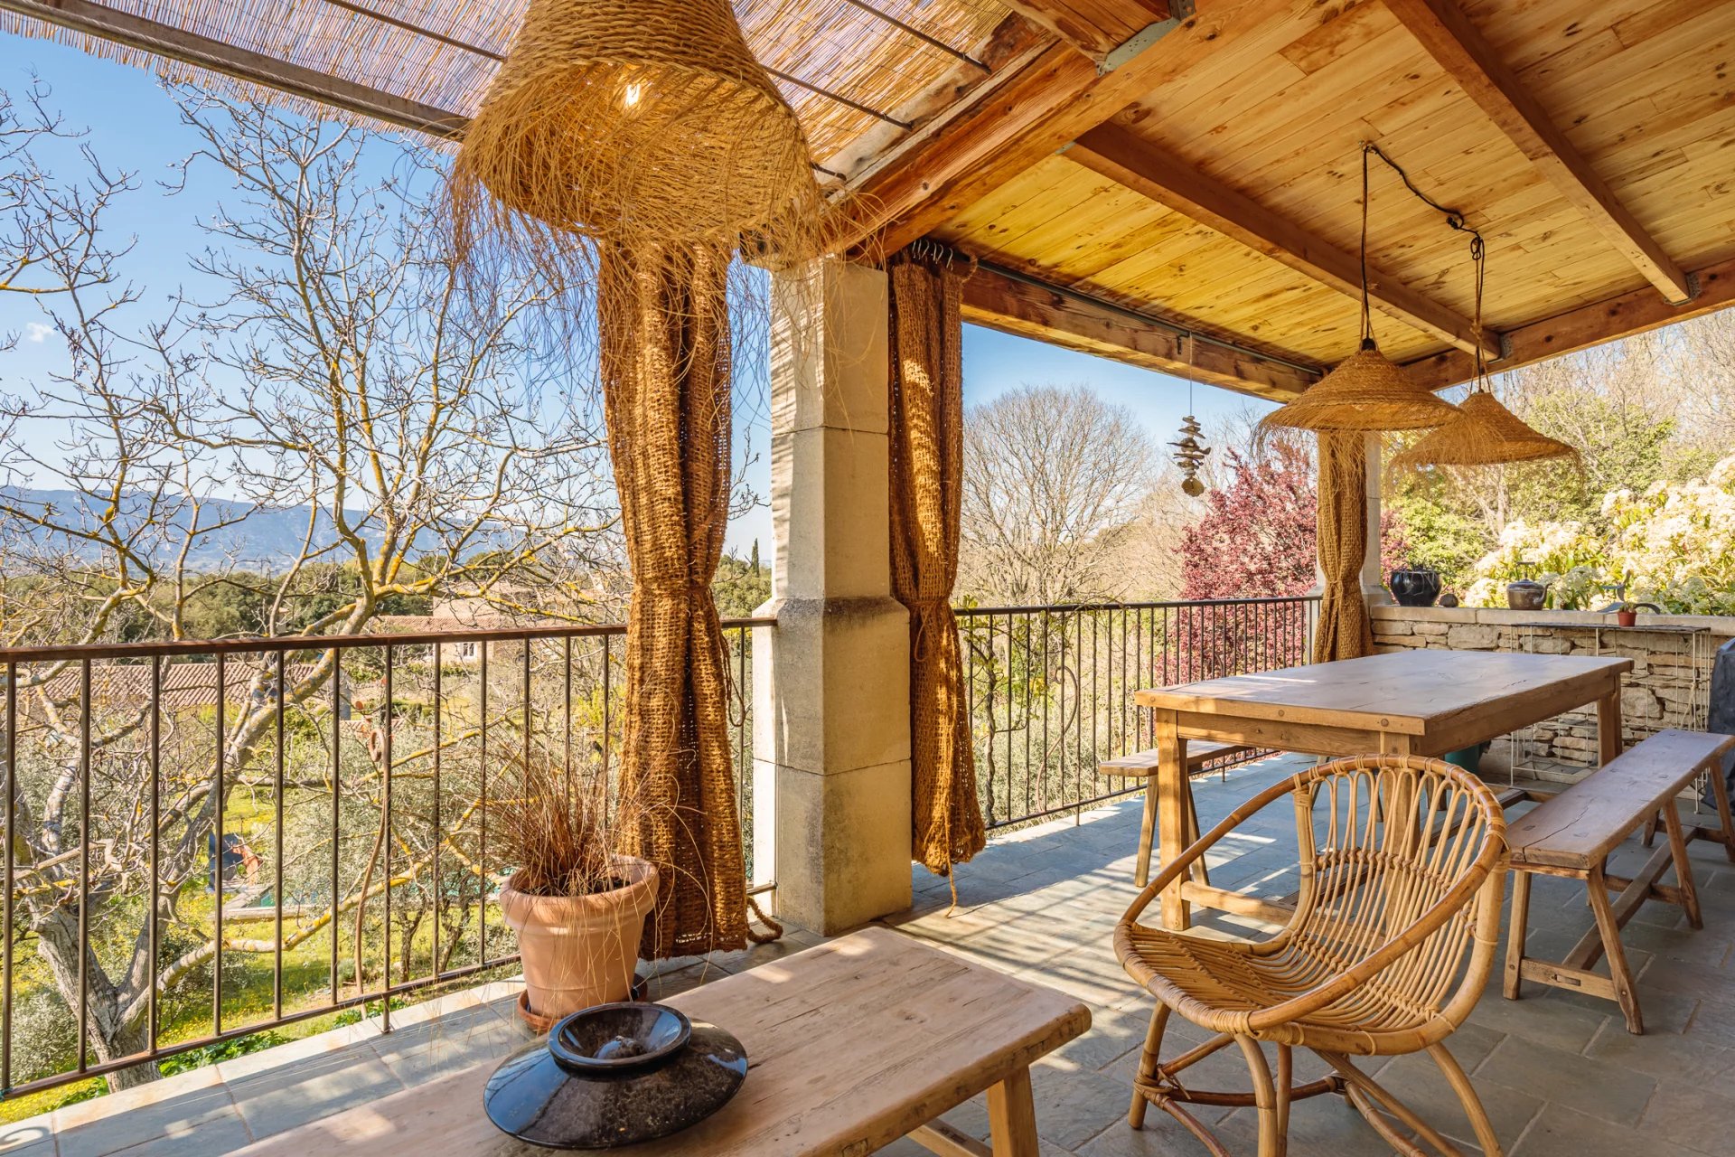
<svg viewBox="0 0 1735 1157">
<path fill-rule="evenodd" d="M 1293 770 L 1293 758 L 1197 782 L 1209 826 L 1235 801 Z M 1280 814 L 1279 814 L 1280 812 Z M 1194 1157 L 1204 1148 L 1168 1115 L 1152 1110 L 1145 1129 L 1126 1124 L 1133 1069 L 1150 997 L 1121 971 L 1110 947 L 1114 921 L 1133 899 L 1138 805 L 1126 801 L 996 840 L 958 871 L 956 909 L 944 879 L 916 871 L 916 902 L 888 919 L 907 935 L 944 944 L 1008 973 L 1053 985 L 1088 1003 L 1090 1034 L 1043 1060 L 1034 1072 L 1041 1157 Z M 1220 845 L 1211 879 L 1258 895 L 1294 888 L 1293 814 L 1268 810 Z M 1647 904 L 1627 926 L 1640 973 L 1648 1034 L 1629 1036 L 1614 1004 L 1558 989 L 1525 987 L 1506 1001 L 1497 984 L 1450 1039 L 1513 1157 L 1726 1157 L 1735 1154 L 1735 866 L 1721 848 L 1692 845 L 1706 928 L 1692 931 L 1678 909 Z M 1622 848 L 1615 869 L 1641 859 Z M 1227 918 L 1211 923 L 1232 930 Z M 1539 878 L 1530 944 L 1560 956 L 1589 926 L 1582 892 Z M 670 961 L 652 996 L 670 996 L 815 944 L 791 931 L 711 961 Z M 305 1121 L 503 1056 L 527 1032 L 517 1023 L 510 984 L 475 989 L 392 1013 L 394 1030 L 359 1023 L 264 1053 L 200 1069 L 141 1089 L 104 1096 L 0 1128 L 0 1154 L 106 1157 L 174 1154 L 203 1157 L 295 1128 Z M 1169 1039 L 1202 1039 L 1173 1018 Z M 1300 1069 L 1298 1058 L 1298 1069 Z M 1199 1082 L 1246 1088 L 1239 1056 L 1216 1055 Z M 1374 1075 L 1454 1138 L 1468 1122 L 1426 1058 L 1376 1062 Z M 1306 1075 L 1306 1074 L 1303 1074 Z M 1211 1112 L 1211 1110 L 1206 1110 Z M 959 1129 L 987 1134 L 980 1100 L 947 1114 Z M 1251 1110 L 1211 1115 L 1234 1154 L 1254 1152 Z M 1473 1145 L 1461 1141 L 1466 1152 Z M 883 1157 L 925 1154 L 913 1141 Z M 1294 1157 L 1372 1157 L 1390 1148 L 1339 1098 L 1300 1101 L 1291 1122 Z"/>
</svg>

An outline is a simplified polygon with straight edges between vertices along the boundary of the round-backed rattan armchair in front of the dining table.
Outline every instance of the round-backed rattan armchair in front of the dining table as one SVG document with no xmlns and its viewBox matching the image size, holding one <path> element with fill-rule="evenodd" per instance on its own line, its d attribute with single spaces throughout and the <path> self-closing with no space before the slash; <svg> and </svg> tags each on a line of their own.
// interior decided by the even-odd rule
<svg viewBox="0 0 1735 1157">
<path fill-rule="evenodd" d="M 1211 845 L 1286 794 L 1296 805 L 1301 886 L 1282 931 L 1260 942 L 1211 940 L 1138 923 Z M 1142 1128 L 1145 1107 L 1156 1105 L 1211 1154 L 1228 1157 L 1182 1105 L 1253 1105 L 1260 1157 L 1282 1157 L 1291 1101 L 1343 1093 L 1398 1154 L 1426 1157 L 1428 1150 L 1393 1117 L 1438 1154 L 1457 1157 L 1459 1148 L 1350 1060 L 1426 1051 L 1463 1101 L 1483 1154 L 1497 1157 L 1489 1115 L 1442 1041 L 1470 1015 L 1489 980 L 1504 853 L 1506 822 L 1494 793 L 1440 760 L 1338 760 L 1235 808 L 1168 864 L 1114 930 L 1121 964 L 1157 997 L 1131 1126 Z M 1218 1036 L 1159 1060 L 1171 1011 Z M 1275 1081 L 1261 1043 L 1275 1046 Z M 1182 1081 L 1185 1069 L 1228 1044 L 1247 1062 L 1251 1093 L 1204 1091 Z M 1296 1046 L 1317 1053 L 1332 1072 L 1296 1086 Z"/>
</svg>

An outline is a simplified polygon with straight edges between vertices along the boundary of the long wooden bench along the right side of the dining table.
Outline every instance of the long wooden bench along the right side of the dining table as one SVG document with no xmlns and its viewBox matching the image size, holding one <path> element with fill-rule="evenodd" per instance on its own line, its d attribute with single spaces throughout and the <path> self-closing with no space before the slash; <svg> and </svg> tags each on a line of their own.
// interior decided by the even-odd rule
<svg viewBox="0 0 1735 1157">
<path fill-rule="evenodd" d="M 1702 926 L 1686 843 L 1716 840 L 1735 862 L 1735 824 L 1730 822 L 1728 786 L 1723 782 L 1723 753 L 1730 748 L 1735 748 L 1735 735 L 1664 730 L 1565 791 L 1525 793 L 1541 803 L 1506 827 L 1513 867 L 1511 928 L 1506 933 L 1508 999 L 1518 999 L 1523 980 L 1589 992 L 1620 1004 L 1627 1032 L 1645 1032 L 1633 971 L 1620 947 L 1620 928 L 1647 899 L 1678 904 L 1693 928 Z M 1683 820 L 1676 803 L 1706 772 L 1718 807 L 1714 829 Z M 1655 822 L 1659 814 L 1667 845 L 1657 848 L 1631 879 L 1608 874 L 1608 853 L 1634 831 Z M 1659 883 L 1671 860 L 1674 885 Z M 1532 874 L 1582 879 L 1589 892 L 1596 923 L 1562 961 L 1525 956 Z M 1615 893 L 1614 900 L 1610 893 Z M 1598 956 L 1608 958 L 1607 977 L 1591 971 Z"/>
</svg>

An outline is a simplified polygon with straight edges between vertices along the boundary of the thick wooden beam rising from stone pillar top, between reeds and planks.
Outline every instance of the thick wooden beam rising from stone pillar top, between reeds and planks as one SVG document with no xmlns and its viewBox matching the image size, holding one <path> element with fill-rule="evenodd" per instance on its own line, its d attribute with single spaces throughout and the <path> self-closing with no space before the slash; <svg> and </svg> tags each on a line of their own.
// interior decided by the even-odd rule
<svg viewBox="0 0 1735 1157">
<path fill-rule="evenodd" d="M 854 187 L 857 255 L 892 253 L 956 217 L 1025 168 L 1103 123 L 1166 76 L 1213 52 L 1223 23 L 1263 0 L 1188 16 L 1112 71 L 1067 43 L 1036 54 L 932 134 L 913 137 Z"/>
</svg>

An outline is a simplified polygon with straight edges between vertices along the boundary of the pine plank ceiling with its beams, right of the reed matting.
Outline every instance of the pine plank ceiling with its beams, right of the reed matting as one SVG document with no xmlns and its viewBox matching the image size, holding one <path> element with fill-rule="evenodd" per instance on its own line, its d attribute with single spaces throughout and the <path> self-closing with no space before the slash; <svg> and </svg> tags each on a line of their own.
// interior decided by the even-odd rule
<svg viewBox="0 0 1735 1157">
<path fill-rule="evenodd" d="M 1732 64 L 1726 0 L 1199 0 L 1135 99 L 923 224 L 1027 279 L 991 271 L 973 321 L 1171 368 L 1102 333 L 1166 319 L 1282 359 L 1234 369 L 1280 397 L 1355 349 L 1371 141 L 1485 234 L 1483 345 L 1513 366 L 1732 300 Z M 1468 239 L 1378 161 L 1369 264 L 1381 347 L 1464 380 Z M 1119 309 L 1072 333 L 1093 304 Z"/>
</svg>

